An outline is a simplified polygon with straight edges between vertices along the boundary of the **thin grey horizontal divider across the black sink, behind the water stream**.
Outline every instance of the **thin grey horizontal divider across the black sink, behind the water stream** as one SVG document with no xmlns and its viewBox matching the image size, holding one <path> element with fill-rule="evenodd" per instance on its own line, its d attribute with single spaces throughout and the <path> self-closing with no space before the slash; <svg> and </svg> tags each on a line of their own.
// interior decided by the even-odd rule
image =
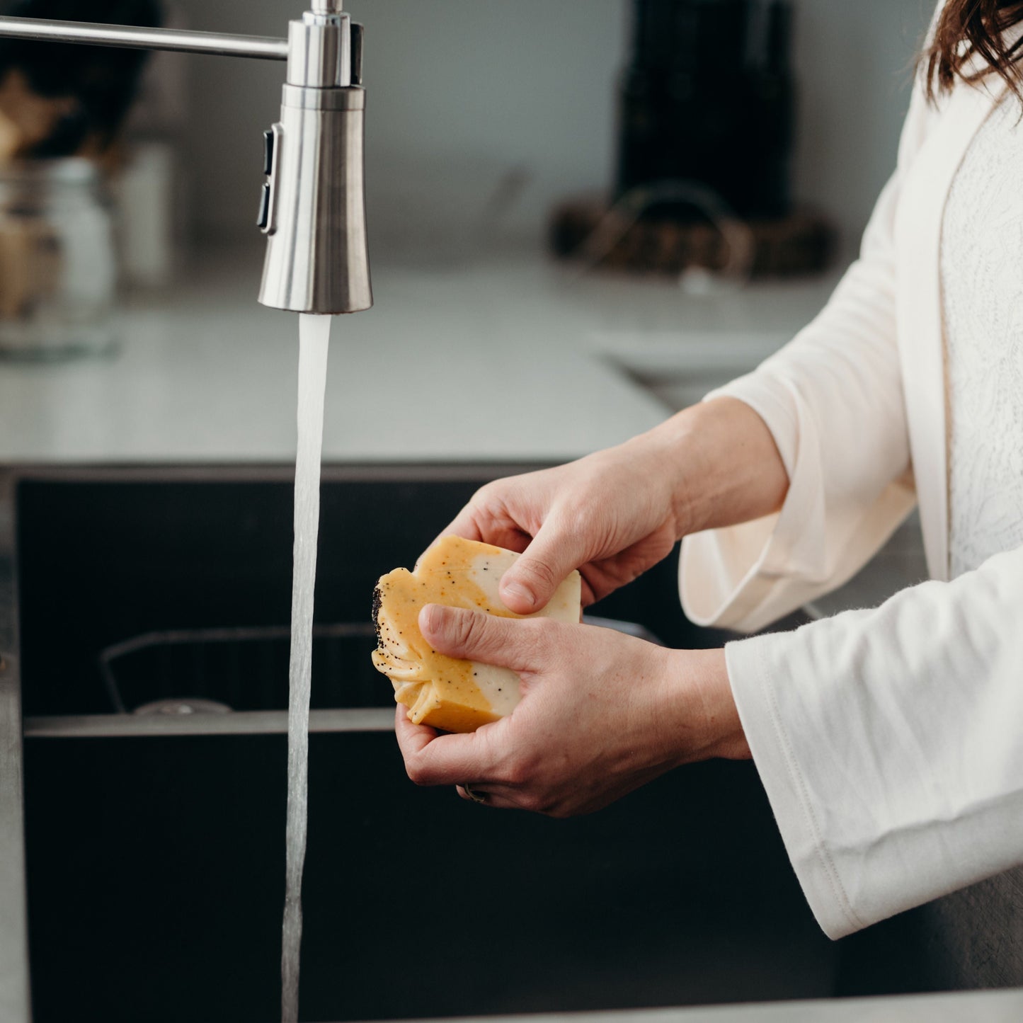
<svg viewBox="0 0 1023 1023">
<path fill-rule="evenodd" d="M 313 710 L 309 731 L 393 731 L 391 708 Z M 27 717 L 27 739 L 132 739 L 171 736 L 277 736 L 287 733 L 287 711 L 253 710 L 225 714 L 62 714 Z M 2 1006 L 2 1002 L 0 1002 Z M 7 1023 L 7 1016 L 0 1016 Z"/>
</svg>

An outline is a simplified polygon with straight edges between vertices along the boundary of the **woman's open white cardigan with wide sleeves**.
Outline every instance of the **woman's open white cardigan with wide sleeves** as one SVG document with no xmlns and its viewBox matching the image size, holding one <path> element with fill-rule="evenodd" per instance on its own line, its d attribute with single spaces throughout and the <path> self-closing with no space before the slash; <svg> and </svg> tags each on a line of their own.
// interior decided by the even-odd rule
<svg viewBox="0 0 1023 1023">
<path fill-rule="evenodd" d="M 941 222 L 1003 91 L 959 86 L 935 108 L 918 83 L 861 258 L 813 323 L 723 390 L 774 436 L 781 513 L 683 542 L 690 617 L 756 631 L 845 582 L 920 502 L 933 581 L 726 648 L 754 760 L 832 937 L 1023 862 L 1023 549 L 946 581 Z M 1023 253 L 1006 257 L 1023 288 Z"/>
</svg>

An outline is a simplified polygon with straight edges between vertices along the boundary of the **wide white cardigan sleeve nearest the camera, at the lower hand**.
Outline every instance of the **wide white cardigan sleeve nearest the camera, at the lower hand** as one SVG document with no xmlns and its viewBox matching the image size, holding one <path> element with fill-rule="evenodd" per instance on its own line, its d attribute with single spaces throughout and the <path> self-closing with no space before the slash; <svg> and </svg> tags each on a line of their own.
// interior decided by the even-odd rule
<svg viewBox="0 0 1023 1023">
<path fill-rule="evenodd" d="M 786 848 L 833 938 L 1023 862 L 1023 548 L 728 644 Z"/>
</svg>

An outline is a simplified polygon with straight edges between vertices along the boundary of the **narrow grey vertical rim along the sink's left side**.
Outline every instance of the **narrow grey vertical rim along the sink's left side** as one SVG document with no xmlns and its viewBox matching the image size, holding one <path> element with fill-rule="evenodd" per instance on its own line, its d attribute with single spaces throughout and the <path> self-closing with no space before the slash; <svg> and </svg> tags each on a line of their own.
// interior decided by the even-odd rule
<svg viewBox="0 0 1023 1023">
<path fill-rule="evenodd" d="M 29 1023 L 14 480 L 0 474 L 0 1020 Z"/>
</svg>

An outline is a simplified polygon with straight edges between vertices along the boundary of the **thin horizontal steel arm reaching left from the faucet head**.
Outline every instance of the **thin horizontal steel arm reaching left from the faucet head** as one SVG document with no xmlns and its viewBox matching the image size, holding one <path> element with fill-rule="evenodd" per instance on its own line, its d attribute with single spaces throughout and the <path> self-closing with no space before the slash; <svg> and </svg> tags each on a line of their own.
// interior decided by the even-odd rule
<svg viewBox="0 0 1023 1023">
<path fill-rule="evenodd" d="M 128 25 L 54 21 L 40 17 L 0 17 L 0 36 L 53 43 L 90 43 L 139 50 L 178 50 L 218 56 L 286 60 L 287 40 L 267 36 L 229 36 L 179 29 L 139 29 Z"/>
</svg>

